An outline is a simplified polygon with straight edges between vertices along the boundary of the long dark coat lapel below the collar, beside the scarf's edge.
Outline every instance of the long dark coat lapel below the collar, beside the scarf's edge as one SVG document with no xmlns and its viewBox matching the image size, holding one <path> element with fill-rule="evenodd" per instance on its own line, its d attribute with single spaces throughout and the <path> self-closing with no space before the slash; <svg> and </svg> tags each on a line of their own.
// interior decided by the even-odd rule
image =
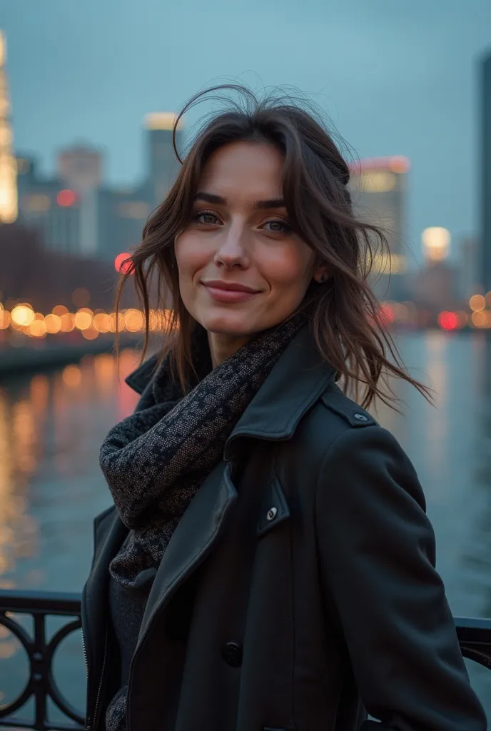
<svg viewBox="0 0 491 731">
<path fill-rule="evenodd" d="M 137 649 L 151 628 L 153 618 L 208 556 L 216 542 L 224 520 L 237 500 L 231 467 L 230 463 L 220 462 L 210 472 L 172 534 L 148 596 Z"/>
</svg>

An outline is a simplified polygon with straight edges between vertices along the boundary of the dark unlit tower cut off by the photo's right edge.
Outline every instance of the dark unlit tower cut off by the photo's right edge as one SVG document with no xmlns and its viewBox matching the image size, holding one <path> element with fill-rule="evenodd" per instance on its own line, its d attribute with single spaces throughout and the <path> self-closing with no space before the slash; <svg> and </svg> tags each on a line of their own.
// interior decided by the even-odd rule
<svg viewBox="0 0 491 731">
<path fill-rule="evenodd" d="M 483 294 L 491 291 L 491 53 L 481 66 L 481 270 Z"/>
</svg>

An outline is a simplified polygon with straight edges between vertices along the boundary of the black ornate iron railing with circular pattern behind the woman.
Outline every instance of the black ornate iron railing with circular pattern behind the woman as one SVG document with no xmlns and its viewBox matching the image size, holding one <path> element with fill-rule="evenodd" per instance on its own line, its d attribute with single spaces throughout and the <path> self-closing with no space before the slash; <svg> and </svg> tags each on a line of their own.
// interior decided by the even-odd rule
<svg viewBox="0 0 491 731">
<path fill-rule="evenodd" d="M 12 615 L 28 615 L 34 621 L 31 636 Z M 69 621 L 46 640 L 47 617 L 66 617 Z M 34 729 L 36 731 L 83 731 L 84 719 L 80 711 L 63 697 L 53 676 L 53 656 L 61 640 L 80 629 L 80 594 L 21 592 L 0 590 L 0 625 L 18 638 L 30 662 L 28 682 L 19 696 L 0 705 L 0 727 Z M 468 657 L 491 670 L 491 619 L 455 618 L 460 649 Z M 34 697 L 34 721 L 20 719 L 15 714 Z M 66 721 L 57 723 L 47 719 L 47 700 L 50 698 L 64 713 Z"/>
</svg>

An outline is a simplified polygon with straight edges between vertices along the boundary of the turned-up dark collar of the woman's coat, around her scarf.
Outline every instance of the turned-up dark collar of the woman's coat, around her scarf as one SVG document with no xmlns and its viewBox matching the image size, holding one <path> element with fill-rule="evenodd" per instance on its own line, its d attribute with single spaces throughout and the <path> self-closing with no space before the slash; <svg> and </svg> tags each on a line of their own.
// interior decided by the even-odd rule
<svg viewBox="0 0 491 731">
<path fill-rule="evenodd" d="M 158 363 L 158 356 L 153 355 L 126 378 L 126 383 L 137 393 L 143 393 Z M 321 358 L 310 329 L 305 325 L 286 346 L 238 420 L 225 444 L 224 458 L 231 458 L 232 445 L 241 436 L 289 439 L 302 416 L 334 378 L 335 369 Z"/>
</svg>

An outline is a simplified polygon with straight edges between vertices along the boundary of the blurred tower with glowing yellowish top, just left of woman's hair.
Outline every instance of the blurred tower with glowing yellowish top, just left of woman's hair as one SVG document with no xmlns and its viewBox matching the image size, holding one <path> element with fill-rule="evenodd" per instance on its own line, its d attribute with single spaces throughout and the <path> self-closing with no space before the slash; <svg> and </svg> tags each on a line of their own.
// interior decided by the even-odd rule
<svg viewBox="0 0 491 731">
<path fill-rule="evenodd" d="M 179 162 L 172 146 L 172 129 L 175 114 L 153 112 L 145 117 L 147 129 L 147 154 L 150 178 L 149 199 L 156 207 L 164 199 L 179 170 Z M 176 143 L 180 146 L 181 124 L 178 124 Z"/>
</svg>

